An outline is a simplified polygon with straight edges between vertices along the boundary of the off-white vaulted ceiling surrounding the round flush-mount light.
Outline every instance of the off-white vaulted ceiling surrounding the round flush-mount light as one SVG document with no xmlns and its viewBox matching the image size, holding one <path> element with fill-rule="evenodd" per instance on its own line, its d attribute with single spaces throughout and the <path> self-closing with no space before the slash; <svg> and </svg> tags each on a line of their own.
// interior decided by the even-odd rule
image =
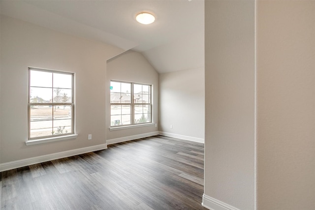
<svg viewBox="0 0 315 210">
<path fill-rule="evenodd" d="M 204 66 L 204 0 L 0 0 L 1 14 L 142 53 L 159 73 Z M 151 25 L 135 21 L 146 11 Z"/>
</svg>

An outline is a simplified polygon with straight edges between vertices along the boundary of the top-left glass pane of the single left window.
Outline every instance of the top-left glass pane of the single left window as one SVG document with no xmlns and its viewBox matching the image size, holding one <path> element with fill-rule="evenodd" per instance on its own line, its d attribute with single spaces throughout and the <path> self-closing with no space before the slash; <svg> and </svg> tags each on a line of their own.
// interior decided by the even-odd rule
<svg viewBox="0 0 315 210">
<path fill-rule="evenodd" d="M 30 70 L 30 86 L 52 88 L 53 73 Z"/>
</svg>

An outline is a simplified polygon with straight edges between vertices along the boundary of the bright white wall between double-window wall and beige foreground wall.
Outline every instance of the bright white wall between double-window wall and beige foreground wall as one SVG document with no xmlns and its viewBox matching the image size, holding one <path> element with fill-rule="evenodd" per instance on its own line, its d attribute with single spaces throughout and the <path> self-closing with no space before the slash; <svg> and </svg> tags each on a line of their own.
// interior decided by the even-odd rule
<svg viewBox="0 0 315 210">
<path fill-rule="evenodd" d="M 159 110 L 159 131 L 203 143 L 204 67 L 160 74 Z"/>
</svg>

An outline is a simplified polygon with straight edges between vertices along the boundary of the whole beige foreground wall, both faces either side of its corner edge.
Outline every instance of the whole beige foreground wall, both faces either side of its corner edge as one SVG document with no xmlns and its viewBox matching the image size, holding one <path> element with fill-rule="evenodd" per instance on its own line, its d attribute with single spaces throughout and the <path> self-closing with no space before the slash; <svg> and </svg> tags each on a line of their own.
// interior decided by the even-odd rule
<svg viewBox="0 0 315 210">
<path fill-rule="evenodd" d="M 256 1 L 255 34 L 253 3 L 205 2 L 205 195 L 314 210 L 315 1 Z"/>
</svg>

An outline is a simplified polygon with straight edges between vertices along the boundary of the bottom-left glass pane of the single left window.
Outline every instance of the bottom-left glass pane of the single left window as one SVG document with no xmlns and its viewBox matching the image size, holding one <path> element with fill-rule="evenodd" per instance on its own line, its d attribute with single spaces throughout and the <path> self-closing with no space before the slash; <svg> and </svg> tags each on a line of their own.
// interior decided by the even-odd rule
<svg viewBox="0 0 315 210">
<path fill-rule="evenodd" d="M 30 138 L 44 137 L 52 135 L 53 120 L 31 121 Z"/>
</svg>

